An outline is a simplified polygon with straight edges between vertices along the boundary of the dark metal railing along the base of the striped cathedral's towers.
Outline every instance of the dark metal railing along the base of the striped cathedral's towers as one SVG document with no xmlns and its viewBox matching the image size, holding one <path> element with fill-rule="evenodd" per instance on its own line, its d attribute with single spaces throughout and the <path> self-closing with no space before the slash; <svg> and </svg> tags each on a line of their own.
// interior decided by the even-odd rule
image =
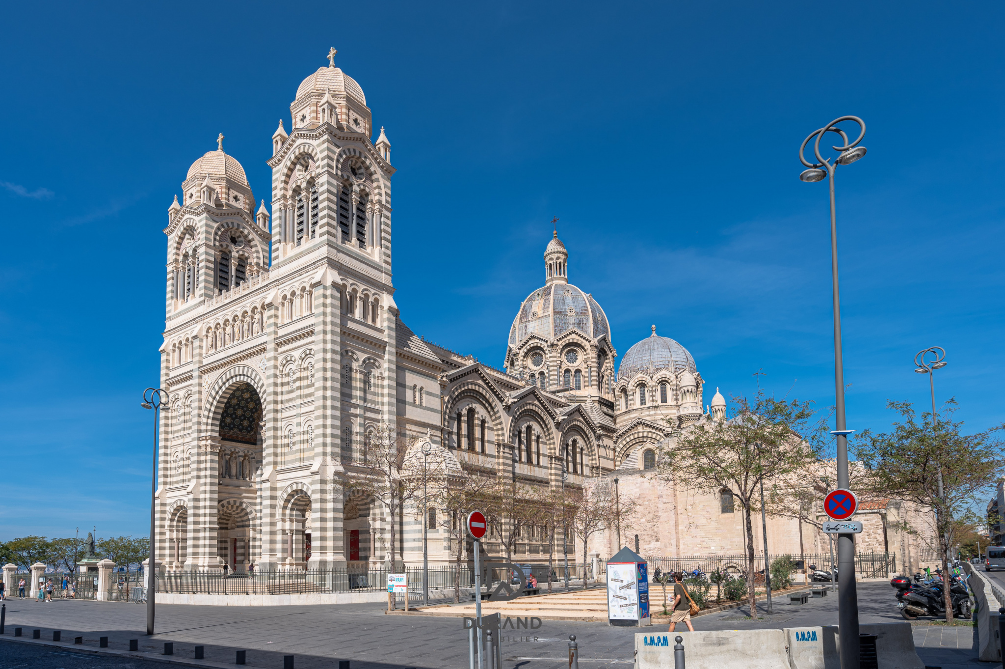
<svg viewBox="0 0 1005 669">
<path fill-rule="evenodd" d="M 408 567 L 406 572 L 408 573 L 409 600 L 421 599 L 422 568 Z M 506 568 L 486 569 L 486 572 L 490 572 L 486 573 L 486 584 L 489 587 L 500 580 L 512 578 L 512 574 L 508 574 Z M 532 566 L 531 572 L 539 583 L 548 582 L 547 564 L 535 564 Z M 308 593 L 386 592 L 389 573 L 400 573 L 400 571 L 297 568 L 267 571 L 255 569 L 251 573 L 227 575 L 181 571 L 161 573 L 157 578 L 157 592 L 190 595 L 304 595 Z M 429 590 L 452 590 L 458 578 L 461 588 L 473 588 L 474 586 L 474 570 L 467 564 L 461 564 L 459 574 L 454 566 L 430 566 L 428 573 Z M 585 565 L 569 564 L 570 580 L 581 581 L 584 573 L 587 579 L 593 578 L 593 565 L 590 563 Z M 140 574 L 140 578 L 142 579 L 142 574 Z M 560 582 L 564 578 L 563 565 L 554 565 L 552 581 Z M 110 582 L 110 591 L 115 584 Z M 138 584 L 142 586 L 142 582 Z"/>
</svg>

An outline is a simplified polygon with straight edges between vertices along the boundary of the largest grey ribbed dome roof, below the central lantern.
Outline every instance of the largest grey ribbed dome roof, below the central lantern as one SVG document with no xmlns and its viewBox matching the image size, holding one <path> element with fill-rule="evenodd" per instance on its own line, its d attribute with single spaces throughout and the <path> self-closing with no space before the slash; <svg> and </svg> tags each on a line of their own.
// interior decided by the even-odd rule
<svg viewBox="0 0 1005 669">
<path fill-rule="evenodd" d="M 527 296 L 510 328 L 510 345 L 517 346 L 532 334 L 554 339 L 576 329 L 597 339 L 609 334 L 607 316 L 593 296 L 572 284 L 545 286 Z"/>
</svg>

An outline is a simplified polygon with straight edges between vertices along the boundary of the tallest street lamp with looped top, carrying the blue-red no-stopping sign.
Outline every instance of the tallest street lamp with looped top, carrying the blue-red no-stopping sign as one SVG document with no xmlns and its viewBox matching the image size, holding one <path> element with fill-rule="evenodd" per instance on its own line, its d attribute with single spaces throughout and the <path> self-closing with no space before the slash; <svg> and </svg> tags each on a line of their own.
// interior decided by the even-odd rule
<svg viewBox="0 0 1005 669">
<path fill-rule="evenodd" d="M 835 126 L 844 121 L 858 124 L 858 138 L 848 141 L 844 131 Z M 820 140 L 827 133 L 841 137 L 843 144 L 832 146 L 840 152 L 836 159 L 820 155 Z M 837 439 L 837 487 L 848 487 L 848 430 L 844 421 L 844 369 L 841 360 L 841 304 L 837 284 L 837 212 L 834 205 L 834 172 L 838 165 L 850 165 L 865 155 L 865 147 L 859 146 L 865 137 L 865 122 L 856 116 L 842 116 L 823 128 L 815 130 L 799 146 L 799 162 L 808 169 L 799 175 L 805 182 L 813 183 L 828 178 L 830 183 L 830 273 L 834 305 L 834 413 L 837 429 L 831 431 Z M 806 145 L 813 142 L 815 162 L 806 160 Z M 841 668 L 858 667 L 858 595 L 855 591 L 855 536 L 838 534 L 837 570 L 840 588 L 838 590 L 838 624 L 841 630 Z"/>
</svg>

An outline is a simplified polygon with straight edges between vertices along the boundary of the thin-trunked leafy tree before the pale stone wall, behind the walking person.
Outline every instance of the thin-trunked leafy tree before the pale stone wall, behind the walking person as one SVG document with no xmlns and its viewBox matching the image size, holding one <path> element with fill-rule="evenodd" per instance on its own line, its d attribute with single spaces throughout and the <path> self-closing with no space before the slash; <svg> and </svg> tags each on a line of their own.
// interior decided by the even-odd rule
<svg viewBox="0 0 1005 669">
<path fill-rule="evenodd" d="M 733 416 L 702 419 L 672 429 L 657 458 L 657 475 L 710 495 L 729 492 L 744 510 L 747 524 L 748 599 L 757 618 L 754 583 L 754 533 L 751 513 L 760 484 L 785 481 L 819 459 L 826 427 L 814 422 L 810 401 L 776 399 L 759 385 L 752 399 L 734 397 Z"/>
</svg>

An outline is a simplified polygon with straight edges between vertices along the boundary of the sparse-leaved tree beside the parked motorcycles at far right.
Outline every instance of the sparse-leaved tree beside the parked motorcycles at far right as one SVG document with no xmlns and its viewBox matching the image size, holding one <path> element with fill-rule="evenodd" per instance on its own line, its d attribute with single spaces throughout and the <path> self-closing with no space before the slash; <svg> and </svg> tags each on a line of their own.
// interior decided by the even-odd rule
<svg viewBox="0 0 1005 669">
<path fill-rule="evenodd" d="M 935 512 L 932 528 L 901 522 L 903 529 L 935 544 L 948 579 L 953 546 L 968 526 L 983 522 L 974 506 L 1005 474 L 1003 444 L 997 438 L 1005 426 L 964 435 L 963 422 L 953 421 L 954 399 L 947 402 L 942 419 L 922 413 L 921 423 L 911 402 L 888 400 L 886 407 L 899 413 L 899 422 L 888 433 L 863 431 L 855 440 L 855 452 L 887 494 Z M 950 589 L 943 590 L 946 621 L 952 622 Z"/>
</svg>

